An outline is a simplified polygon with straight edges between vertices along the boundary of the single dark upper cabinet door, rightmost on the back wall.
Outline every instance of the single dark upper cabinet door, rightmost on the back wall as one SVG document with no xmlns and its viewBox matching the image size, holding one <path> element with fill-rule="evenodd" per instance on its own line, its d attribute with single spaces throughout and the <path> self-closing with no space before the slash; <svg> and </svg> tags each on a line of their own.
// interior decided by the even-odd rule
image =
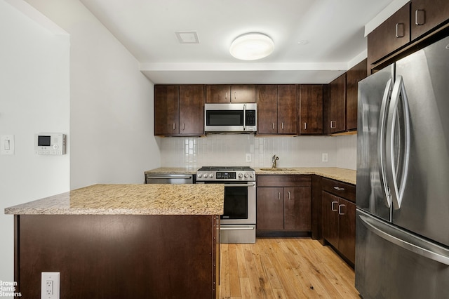
<svg viewBox="0 0 449 299">
<path fill-rule="evenodd" d="M 323 86 L 300 85 L 297 132 L 301 135 L 323 133 Z"/>
</svg>

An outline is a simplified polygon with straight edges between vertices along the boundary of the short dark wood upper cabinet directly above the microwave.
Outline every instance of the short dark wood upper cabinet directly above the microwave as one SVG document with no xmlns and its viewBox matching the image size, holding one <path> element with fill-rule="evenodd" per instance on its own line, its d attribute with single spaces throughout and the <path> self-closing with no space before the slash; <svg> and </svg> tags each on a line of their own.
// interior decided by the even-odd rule
<svg viewBox="0 0 449 299">
<path fill-rule="evenodd" d="M 207 85 L 206 102 L 255 102 L 255 86 Z"/>
</svg>

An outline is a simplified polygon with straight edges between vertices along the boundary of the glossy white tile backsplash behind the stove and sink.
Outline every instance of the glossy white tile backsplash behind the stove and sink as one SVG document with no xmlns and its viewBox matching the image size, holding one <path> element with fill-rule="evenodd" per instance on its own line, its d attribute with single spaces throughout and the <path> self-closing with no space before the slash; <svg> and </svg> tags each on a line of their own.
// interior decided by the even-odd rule
<svg viewBox="0 0 449 299">
<path fill-rule="evenodd" d="M 156 138 L 161 167 L 201 166 L 341 167 L 356 169 L 356 135 L 256 137 L 252 134 L 213 134 L 206 137 Z M 321 161 L 323 153 L 328 162 Z M 247 154 L 250 160 L 246 161 Z"/>
</svg>

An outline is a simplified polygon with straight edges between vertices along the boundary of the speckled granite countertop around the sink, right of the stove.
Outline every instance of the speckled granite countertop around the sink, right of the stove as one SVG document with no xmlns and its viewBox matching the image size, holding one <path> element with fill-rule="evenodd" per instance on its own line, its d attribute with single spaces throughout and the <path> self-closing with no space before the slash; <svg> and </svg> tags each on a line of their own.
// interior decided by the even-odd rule
<svg viewBox="0 0 449 299">
<path fill-rule="evenodd" d="M 337 167 L 280 167 L 282 171 L 264 170 L 254 168 L 256 175 L 293 175 L 293 174 L 314 174 L 324 178 L 340 180 L 356 185 L 356 171 L 347 168 Z M 265 169 L 265 168 L 262 168 Z"/>
</svg>

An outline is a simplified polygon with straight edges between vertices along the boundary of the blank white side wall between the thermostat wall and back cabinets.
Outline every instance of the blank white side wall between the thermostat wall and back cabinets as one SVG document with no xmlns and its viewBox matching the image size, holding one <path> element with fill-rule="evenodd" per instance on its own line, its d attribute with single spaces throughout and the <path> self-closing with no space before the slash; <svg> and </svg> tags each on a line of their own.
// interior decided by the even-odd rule
<svg viewBox="0 0 449 299">
<path fill-rule="evenodd" d="M 141 183 L 160 165 L 153 84 L 78 0 L 27 0 L 70 34 L 70 186 Z"/>
</svg>

